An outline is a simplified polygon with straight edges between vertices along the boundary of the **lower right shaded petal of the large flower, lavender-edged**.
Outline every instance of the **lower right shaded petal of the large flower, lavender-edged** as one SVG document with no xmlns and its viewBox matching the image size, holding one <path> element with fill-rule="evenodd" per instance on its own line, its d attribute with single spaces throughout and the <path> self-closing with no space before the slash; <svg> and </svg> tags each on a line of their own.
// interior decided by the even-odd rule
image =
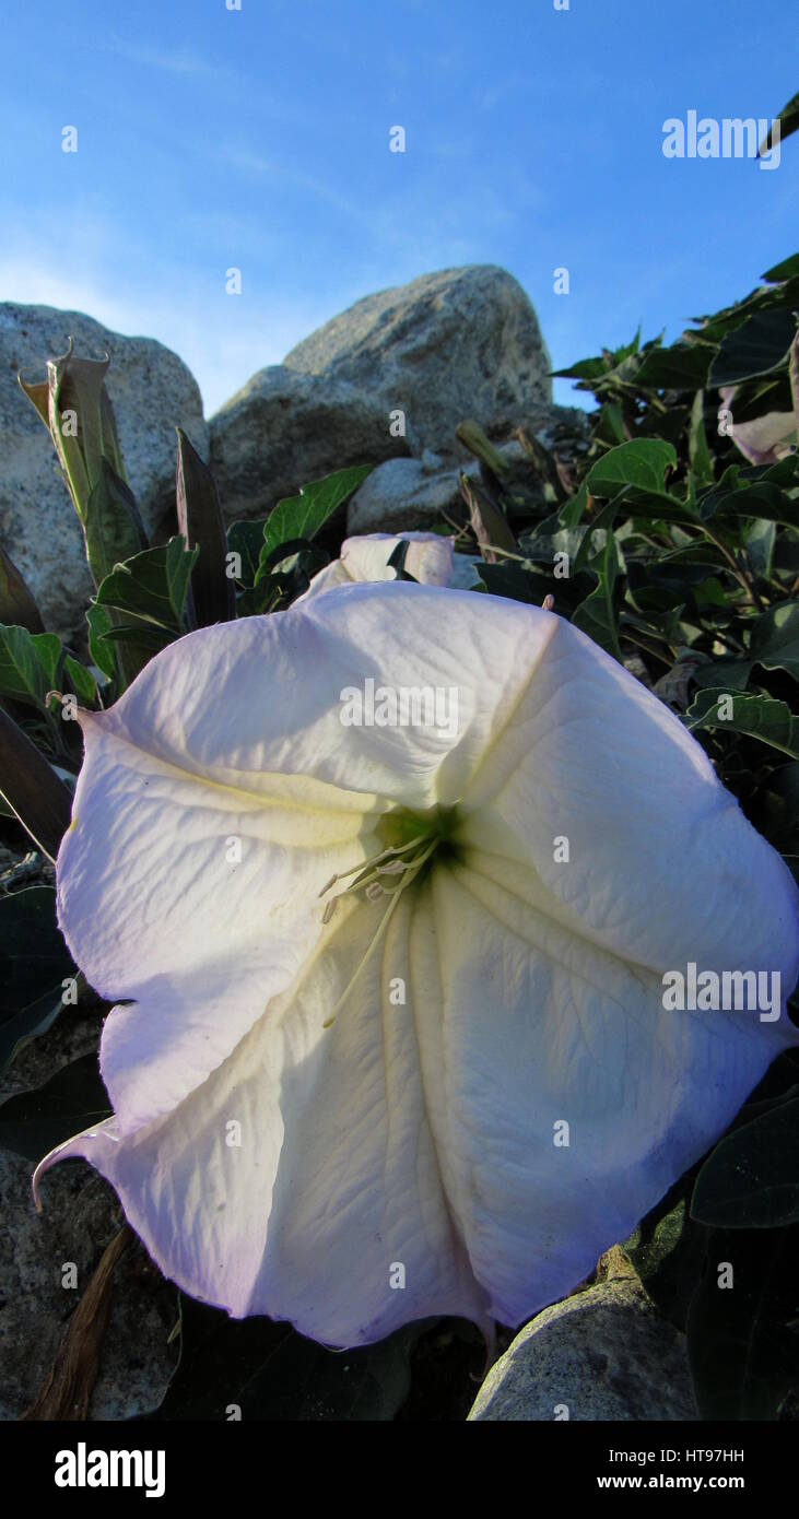
<svg viewBox="0 0 799 1519">
<path fill-rule="evenodd" d="M 415 984 L 444 989 L 445 1185 L 491 1312 L 516 1325 L 630 1235 L 794 1039 L 756 1013 L 665 1012 L 656 974 L 495 858 L 436 872 L 416 911 L 434 936 Z"/>
</svg>

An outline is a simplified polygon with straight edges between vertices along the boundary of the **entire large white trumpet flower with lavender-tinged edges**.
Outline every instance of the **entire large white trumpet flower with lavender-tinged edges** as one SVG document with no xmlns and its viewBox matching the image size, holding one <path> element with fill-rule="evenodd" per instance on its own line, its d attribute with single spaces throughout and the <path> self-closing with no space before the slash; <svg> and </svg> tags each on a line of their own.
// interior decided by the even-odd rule
<svg viewBox="0 0 799 1519">
<path fill-rule="evenodd" d="M 81 725 L 59 922 L 120 1003 L 114 1113 L 38 1170 L 85 1156 L 235 1317 L 518 1325 L 794 1041 L 788 870 L 550 612 L 343 586 L 190 633 Z M 776 1010 L 667 1006 L 691 966 Z"/>
</svg>

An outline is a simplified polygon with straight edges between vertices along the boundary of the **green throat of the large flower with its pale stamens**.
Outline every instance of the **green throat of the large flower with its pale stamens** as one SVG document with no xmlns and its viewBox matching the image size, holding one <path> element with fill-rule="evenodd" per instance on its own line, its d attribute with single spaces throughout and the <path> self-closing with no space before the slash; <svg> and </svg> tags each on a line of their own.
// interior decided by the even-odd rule
<svg viewBox="0 0 799 1519">
<path fill-rule="evenodd" d="M 324 890 L 319 892 L 319 896 L 328 898 L 322 914 L 324 924 L 330 922 L 342 896 L 357 896 L 358 892 L 363 892 L 365 898 L 371 902 L 386 898 L 386 911 L 377 933 L 362 955 L 330 1018 L 325 1018 L 325 1028 L 330 1028 L 336 1021 L 336 1015 L 349 996 L 360 972 L 381 942 L 403 892 L 407 892 L 430 867 L 433 855 L 437 855 L 439 860 L 453 855 L 454 822 L 454 807 L 431 807 L 424 813 L 412 813 L 400 807 L 393 813 L 386 813 L 377 828 L 378 838 L 384 848 L 372 855 L 371 860 L 365 860 L 352 866 L 351 870 L 342 870 L 339 875 L 331 876 Z M 340 887 L 333 896 L 328 896 L 334 886 L 339 886 L 340 881 L 346 881 L 349 876 L 352 878 L 349 886 Z"/>
</svg>

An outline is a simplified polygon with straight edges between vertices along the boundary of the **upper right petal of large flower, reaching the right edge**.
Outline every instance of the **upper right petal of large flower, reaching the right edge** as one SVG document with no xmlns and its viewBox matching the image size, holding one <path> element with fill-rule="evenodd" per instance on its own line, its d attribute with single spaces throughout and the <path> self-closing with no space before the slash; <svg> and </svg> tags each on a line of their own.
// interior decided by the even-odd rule
<svg viewBox="0 0 799 1519">
<path fill-rule="evenodd" d="M 799 974 L 799 892 L 679 718 L 554 620 L 472 772 L 462 837 L 535 872 L 551 908 L 656 969 Z M 568 843 L 568 863 L 561 858 Z M 500 873 L 500 870 L 497 873 Z"/>
</svg>

